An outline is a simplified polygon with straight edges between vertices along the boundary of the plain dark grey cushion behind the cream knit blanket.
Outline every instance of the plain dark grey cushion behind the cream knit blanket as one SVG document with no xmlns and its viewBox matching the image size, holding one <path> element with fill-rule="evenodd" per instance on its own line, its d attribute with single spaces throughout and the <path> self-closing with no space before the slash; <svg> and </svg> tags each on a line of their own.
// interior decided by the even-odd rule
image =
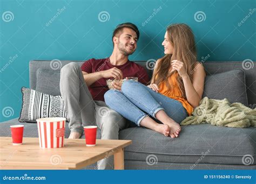
<svg viewBox="0 0 256 184">
<path fill-rule="evenodd" d="M 245 73 L 242 69 L 207 75 L 203 97 L 223 100 L 227 98 L 230 103 L 240 102 L 248 107 Z"/>
</svg>

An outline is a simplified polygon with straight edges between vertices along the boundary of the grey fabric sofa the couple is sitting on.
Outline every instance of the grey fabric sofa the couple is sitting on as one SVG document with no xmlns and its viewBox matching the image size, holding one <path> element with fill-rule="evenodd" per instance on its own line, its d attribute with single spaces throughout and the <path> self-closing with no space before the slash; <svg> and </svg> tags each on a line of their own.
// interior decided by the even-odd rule
<svg viewBox="0 0 256 184">
<path fill-rule="evenodd" d="M 83 63 L 82 61 L 61 61 L 60 66 L 53 68 L 50 61 L 30 61 L 30 88 L 58 95 L 59 70 L 69 62 L 78 62 L 80 65 Z M 145 61 L 138 63 L 145 67 Z M 242 62 L 205 62 L 203 65 L 207 75 L 242 69 Z M 50 71 L 50 74 L 45 71 Z M 147 72 L 151 75 L 152 70 L 147 70 Z M 254 107 L 256 104 L 256 67 L 244 70 L 244 72 L 246 88 L 244 88 L 244 93 L 236 98 L 242 97 L 246 99 L 246 103 L 248 100 L 246 105 Z M 41 77 L 37 79 L 37 76 Z M 42 83 L 44 84 L 38 85 Z M 221 82 L 216 80 L 215 83 L 214 89 L 217 89 L 218 83 Z M 226 81 L 226 83 L 230 82 Z M 231 82 L 230 85 L 235 85 L 235 83 Z M 231 87 L 220 91 L 222 95 L 220 97 L 222 98 L 227 93 L 225 97 L 228 98 L 228 94 L 234 93 Z M 21 123 L 17 118 L 0 123 L 1 136 L 11 136 L 9 126 L 13 124 Z M 25 137 L 38 137 L 35 123 L 24 123 L 24 125 Z M 255 130 L 252 127 L 240 129 L 210 124 L 188 125 L 182 127 L 178 138 L 172 139 L 149 129 L 130 126 L 119 132 L 119 139 L 132 140 L 132 145 L 125 148 L 125 169 L 256 169 Z M 67 123 L 66 138 L 69 133 Z M 97 138 L 100 138 L 100 131 L 97 132 Z M 250 156 L 251 165 L 245 163 L 247 155 Z M 87 168 L 93 169 L 94 167 L 91 165 Z"/>
</svg>

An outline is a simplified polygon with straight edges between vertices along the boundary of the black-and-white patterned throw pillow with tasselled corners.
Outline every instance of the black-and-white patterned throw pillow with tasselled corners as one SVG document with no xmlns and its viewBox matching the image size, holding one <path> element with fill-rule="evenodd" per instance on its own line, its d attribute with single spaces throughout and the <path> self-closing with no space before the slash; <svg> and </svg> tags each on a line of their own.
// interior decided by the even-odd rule
<svg viewBox="0 0 256 184">
<path fill-rule="evenodd" d="M 22 87 L 23 103 L 19 122 L 36 123 L 45 117 L 66 117 L 62 96 L 51 96 Z"/>
</svg>

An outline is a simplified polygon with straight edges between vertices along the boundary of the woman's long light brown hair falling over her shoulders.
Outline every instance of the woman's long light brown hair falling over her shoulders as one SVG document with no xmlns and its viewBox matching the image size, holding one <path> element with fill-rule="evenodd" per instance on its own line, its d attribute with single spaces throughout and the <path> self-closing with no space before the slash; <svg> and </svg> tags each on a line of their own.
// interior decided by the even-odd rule
<svg viewBox="0 0 256 184">
<path fill-rule="evenodd" d="M 168 26 L 167 37 L 173 46 L 173 53 L 166 54 L 163 58 L 160 58 L 158 65 L 154 68 L 151 83 L 159 85 L 161 82 L 165 81 L 168 90 L 172 90 L 173 85 L 169 83 L 168 79 L 173 73 L 177 73 L 178 71 L 174 70 L 171 72 L 171 61 L 182 61 L 192 81 L 193 73 L 190 71 L 192 71 L 197 62 L 197 51 L 193 32 L 186 24 L 173 24 Z M 183 98 L 186 99 L 183 80 L 179 75 L 177 76 L 177 83 Z"/>
</svg>

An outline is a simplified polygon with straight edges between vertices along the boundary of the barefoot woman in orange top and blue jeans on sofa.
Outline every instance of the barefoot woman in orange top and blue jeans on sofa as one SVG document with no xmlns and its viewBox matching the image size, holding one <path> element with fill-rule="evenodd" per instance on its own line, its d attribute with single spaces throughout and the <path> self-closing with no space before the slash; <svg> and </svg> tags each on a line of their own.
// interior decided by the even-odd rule
<svg viewBox="0 0 256 184">
<path fill-rule="evenodd" d="M 109 90 L 104 98 L 111 109 L 138 126 L 175 138 L 179 123 L 199 105 L 205 71 L 197 62 L 194 36 L 186 24 L 167 27 L 162 45 L 165 56 L 157 60 L 149 86 L 126 80 L 122 91 Z"/>
</svg>

